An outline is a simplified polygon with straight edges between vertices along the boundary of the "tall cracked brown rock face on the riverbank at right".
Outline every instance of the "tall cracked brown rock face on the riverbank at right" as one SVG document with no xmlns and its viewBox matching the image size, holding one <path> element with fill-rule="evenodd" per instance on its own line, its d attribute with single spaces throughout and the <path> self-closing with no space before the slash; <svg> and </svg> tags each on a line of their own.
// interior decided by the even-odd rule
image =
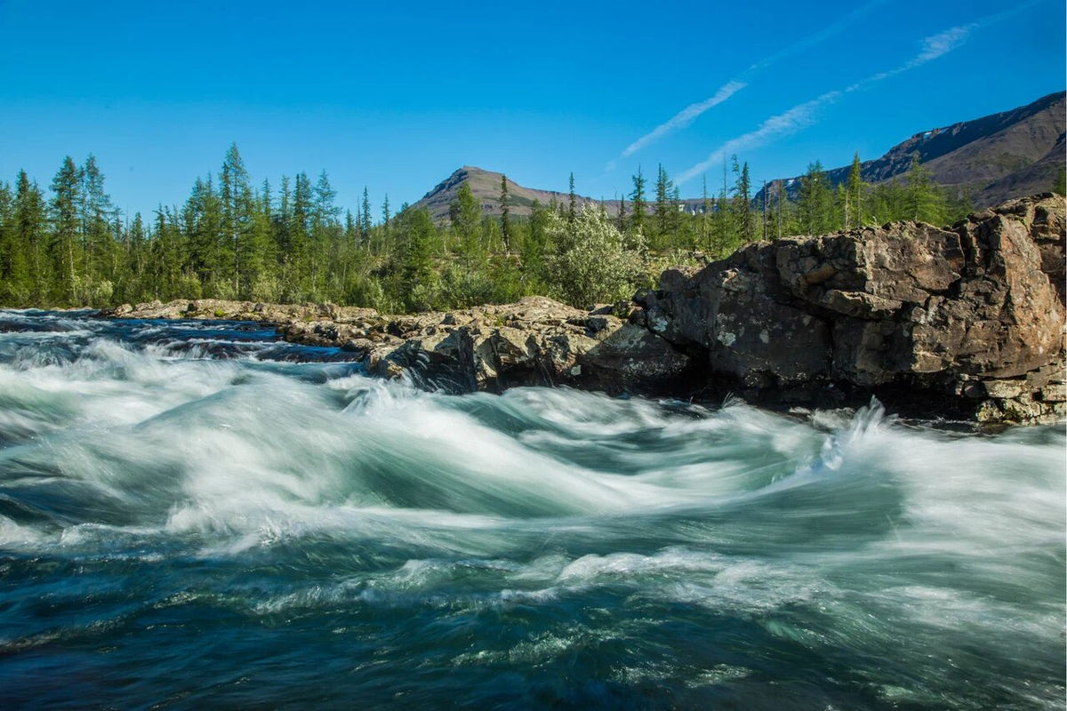
<svg viewBox="0 0 1067 711">
<path fill-rule="evenodd" d="M 903 222 L 753 244 L 691 276 L 666 272 L 642 301 L 638 320 L 751 397 L 896 389 L 986 419 L 1064 414 L 1064 200 L 1051 194 L 951 230 Z"/>
</svg>

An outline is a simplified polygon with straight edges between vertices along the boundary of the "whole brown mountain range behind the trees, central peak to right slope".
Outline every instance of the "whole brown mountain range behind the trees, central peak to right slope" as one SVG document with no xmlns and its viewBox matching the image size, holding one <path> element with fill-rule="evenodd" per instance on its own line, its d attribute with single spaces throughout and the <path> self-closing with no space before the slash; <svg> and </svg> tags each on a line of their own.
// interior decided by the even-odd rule
<svg viewBox="0 0 1067 711">
<path fill-rule="evenodd" d="M 1067 164 L 1065 112 L 1065 93 L 1049 94 L 1012 111 L 915 133 L 881 158 L 861 163 L 860 171 L 871 183 L 892 180 L 908 172 L 911 155 L 918 151 L 938 183 L 953 191 L 967 190 L 976 208 L 1045 192 L 1052 188 Z M 827 177 L 833 184 L 844 182 L 848 168 L 845 165 L 827 171 Z M 796 197 L 799 176 L 782 180 L 789 194 Z M 500 214 L 500 174 L 472 165 L 452 173 L 412 207 L 427 208 L 434 221 L 447 221 L 448 206 L 464 182 L 471 185 L 484 214 Z M 649 189 L 651 192 L 652 187 Z M 569 200 L 567 193 L 524 188 L 512 180 L 508 180 L 508 192 L 511 213 L 515 215 L 529 214 L 534 200 L 542 205 L 553 200 L 566 205 Z M 759 204 L 761 199 L 762 191 L 755 194 L 754 201 Z M 682 201 L 686 212 L 699 211 L 702 203 L 701 198 Z M 579 207 L 587 203 L 601 200 L 578 196 Z M 614 216 L 619 212 L 619 203 L 604 200 L 604 208 Z"/>
</svg>

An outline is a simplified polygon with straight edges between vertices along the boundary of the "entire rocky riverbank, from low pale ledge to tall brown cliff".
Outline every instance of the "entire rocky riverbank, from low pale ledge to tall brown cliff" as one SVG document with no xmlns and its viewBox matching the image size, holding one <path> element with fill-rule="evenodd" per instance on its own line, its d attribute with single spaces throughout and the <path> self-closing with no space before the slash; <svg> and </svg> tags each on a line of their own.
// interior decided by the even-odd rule
<svg viewBox="0 0 1067 711">
<path fill-rule="evenodd" d="M 370 373 L 460 392 L 570 385 L 805 406 L 876 394 L 923 417 L 1048 422 L 1067 414 L 1064 212 L 1045 194 L 950 229 L 751 244 L 591 311 L 531 296 L 414 316 L 213 300 L 112 314 L 267 321 L 361 354 Z"/>
</svg>

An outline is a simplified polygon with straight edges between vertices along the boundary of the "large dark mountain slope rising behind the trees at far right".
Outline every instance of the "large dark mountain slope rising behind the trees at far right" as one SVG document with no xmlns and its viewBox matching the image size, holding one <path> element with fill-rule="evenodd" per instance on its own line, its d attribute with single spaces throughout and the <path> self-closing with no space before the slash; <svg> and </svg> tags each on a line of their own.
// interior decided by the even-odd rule
<svg viewBox="0 0 1067 711">
<path fill-rule="evenodd" d="M 1010 111 L 915 133 L 881 158 L 861 163 L 860 172 L 866 182 L 892 180 L 908 172 L 918 151 L 934 180 L 953 192 L 966 190 L 978 208 L 1044 192 L 1067 163 L 1065 112 L 1065 93 L 1049 94 Z M 838 184 L 847 179 L 848 169 L 846 165 L 826 174 Z M 787 193 L 795 195 L 799 176 L 784 181 Z"/>
</svg>

